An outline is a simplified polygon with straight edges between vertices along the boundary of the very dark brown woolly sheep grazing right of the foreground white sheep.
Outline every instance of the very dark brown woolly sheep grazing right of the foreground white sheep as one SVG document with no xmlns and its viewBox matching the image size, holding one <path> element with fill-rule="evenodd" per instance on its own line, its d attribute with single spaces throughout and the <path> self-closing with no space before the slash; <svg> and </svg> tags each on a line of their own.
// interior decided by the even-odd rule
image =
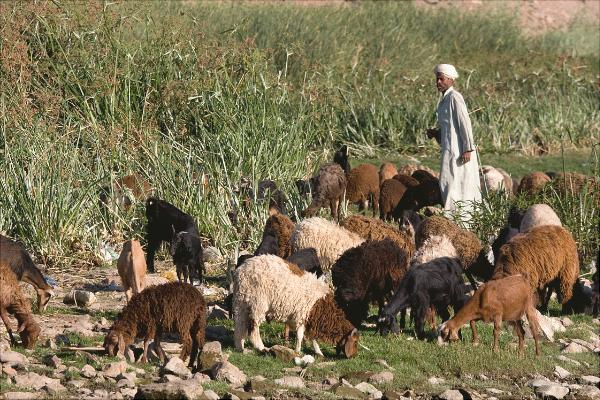
<svg viewBox="0 0 600 400">
<path fill-rule="evenodd" d="M 379 312 L 408 270 L 406 251 L 390 239 L 368 241 L 347 250 L 331 268 L 335 300 L 352 325 L 367 318 L 369 305 Z"/>
</svg>

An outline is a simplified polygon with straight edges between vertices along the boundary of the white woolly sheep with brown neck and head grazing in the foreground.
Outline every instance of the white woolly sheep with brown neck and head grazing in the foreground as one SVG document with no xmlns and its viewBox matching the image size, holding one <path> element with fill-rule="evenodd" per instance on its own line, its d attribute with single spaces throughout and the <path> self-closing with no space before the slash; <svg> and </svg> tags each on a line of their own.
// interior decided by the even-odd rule
<svg viewBox="0 0 600 400">
<path fill-rule="evenodd" d="M 323 355 L 317 340 L 333 344 L 338 354 L 356 355 L 359 335 L 337 306 L 327 283 L 274 255 L 252 257 L 235 271 L 233 281 L 234 342 L 244 350 L 249 336 L 254 348 L 264 351 L 260 324 L 282 321 L 296 327 L 296 351 L 304 334 L 315 353 Z"/>
</svg>

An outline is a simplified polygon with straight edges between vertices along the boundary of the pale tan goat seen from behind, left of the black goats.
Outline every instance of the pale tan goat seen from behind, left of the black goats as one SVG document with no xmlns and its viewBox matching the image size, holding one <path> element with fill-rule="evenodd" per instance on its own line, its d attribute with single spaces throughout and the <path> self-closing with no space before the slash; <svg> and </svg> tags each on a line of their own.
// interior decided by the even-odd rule
<svg viewBox="0 0 600 400">
<path fill-rule="evenodd" d="M 123 244 L 123 250 L 117 261 L 117 270 L 127 301 L 131 296 L 144 290 L 146 278 L 146 259 L 140 242 L 128 240 Z"/>
</svg>

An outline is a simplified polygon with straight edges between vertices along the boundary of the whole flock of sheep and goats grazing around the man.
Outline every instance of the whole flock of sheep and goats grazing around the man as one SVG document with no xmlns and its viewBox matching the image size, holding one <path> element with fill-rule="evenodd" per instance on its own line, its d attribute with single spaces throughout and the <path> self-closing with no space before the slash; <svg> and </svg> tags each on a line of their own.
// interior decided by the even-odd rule
<svg viewBox="0 0 600 400">
<path fill-rule="evenodd" d="M 487 190 L 507 195 L 535 194 L 545 185 L 556 190 L 597 185 L 595 178 L 580 174 L 541 172 L 514 182 L 493 167 L 482 169 L 482 182 Z M 573 236 L 547 205 L 511 210 L 506 227 L 491 245 L 492 257 L 489 246 L 476 235 L 431 211 L 431 206 L 441 203 L 439 183 L 431 170 L 407 166 L 398 171 L 390 163 L 379 170 L 370 164 L 350 169 L 343 147 L 335 153 L 334 162 L 322 166 L 314 178 L 297 182 L 301 193 L 312 195 L 310 206 L 302 212 L 304 219 L 297 223 L 285 214 L 284 196 L 277 194 L 275 185 L 266 186 L 271 189 L 267 194 L 270 215 L 261 243 L 253 254 L 237 260 L 228 299 L 237 350 L 242 351 L 248 339 L 255 349 L 264 351 L 260 325 L 280 321 L 285 323 L 286 340 L 289 331 L 295 331 L 296 351 L 301 351 L 306 337 L 318 355 L 322 355 L 319 342 L 324 342 L 350 358 L 358 352 L 361 324 L 375 304 L 382 335 L 405 328 L 410 309 L 419 339 L 426 337 L 428 324 L 442 340 L 460 340 L 460 329 L 468 322 L 472 340 L 477 342 L 474 322 L 482 320 L 494 323 L 493 347 L 498 350 L 502 322 L 511 321 L 520 352 L 525 315 L 539 355 L 535 307 L 546 309 L 552 292 L 557 292 L 563 312 L 599 312 L 598 272 L 590 295 L 578 278 Z M 361 211 L 370 205 L 373 218 L 340 219 L 344 199 L 358 203 Z M 329 207 L 336 222 L 315 217 L 321 207 Z M 375 218 L 378 209 L 379 219 Z M 417 213 L 420 210 L 429 216 L 422 217 Z M 142 339 L 141 361 L 145 362 L 149 343 L 154 341 L 164 361 L 161 336 L 177 332 L 182 342 L 180 357 L 189 357 L 193 367 L 204 344 L 207 319 L 204 298 L 191 285 L 194 278 L 202 281 L 204 271 L 197 224 L 190 215 L 154 197 L 146 200 L 146 217 L 146 257 L 140 243 L 132 240 L 124 244 L 117 262 L 127 305 L 106 335 L 104 348 L 109 355 L 124 354 L 136 339 Z M 398 222 L 398 228 L 387 222 L 391 220 Z M 19 243 L 4 236 L 0 240 L 0 314 L 11 341 L 16 339 L 8 314 L 18 321 L 23 345 L 31 348 L 40 327 L 18 282 L 35 287 L 40 312 L 52 288 Z M 155 253 L 162 242 L 170 245 L 179 282 L 144 288 L 146 270 L 154 272 Z M 463 274 L 470 284 L 465 284 Z M 445 321 L 439 327 L 438 315 Z"/>
</svg>

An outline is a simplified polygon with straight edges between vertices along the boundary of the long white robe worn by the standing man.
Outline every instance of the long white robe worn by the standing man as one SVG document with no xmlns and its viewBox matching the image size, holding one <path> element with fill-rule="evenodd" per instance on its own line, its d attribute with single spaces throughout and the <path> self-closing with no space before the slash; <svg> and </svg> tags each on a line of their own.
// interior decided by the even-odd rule
<svg viewBox="0 0 600 400">
<path fill-rule="evenodd" d="M 440 166 L 440 189 L 444 209 L 456 211 L 457 201 L 463 201 L 461 209 L 466 211 L 463 220 L 470 219 L 469 201 L 481 200 L 477 152 L 473 143 L 471 119 L 462 95 L 449 88 L 437 107 L 438 128 L 442 162 Z M 473 150 L 471 160 L 461 161 L 465 151 Z"/>
</svg>

